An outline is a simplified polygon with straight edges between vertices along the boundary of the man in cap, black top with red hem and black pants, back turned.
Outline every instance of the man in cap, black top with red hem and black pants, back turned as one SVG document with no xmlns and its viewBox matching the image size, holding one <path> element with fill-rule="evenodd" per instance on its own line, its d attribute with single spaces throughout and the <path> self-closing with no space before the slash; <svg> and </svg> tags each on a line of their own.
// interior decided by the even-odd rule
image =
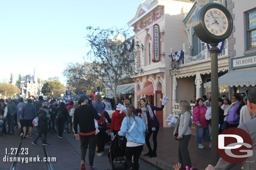
<svg viewBox="0 0 256 170">
<path fill-rule="evenodd" d="M 80 96 L 81 106 L 75 109 L 73 126 L 76 139 L 81 144 L 81 170 L 85 170 L 85 155 L 89 145 L 89 170 L 94 169 L 93 161 L 97 144 L 97 136 L 95 135 L 94 119 L 99 120 L 94 107 L 87 105 L 88 99 L 85 95 Z M 80 135 L 78 135 L 78 126 L 80 127 Z"/>
</svg>

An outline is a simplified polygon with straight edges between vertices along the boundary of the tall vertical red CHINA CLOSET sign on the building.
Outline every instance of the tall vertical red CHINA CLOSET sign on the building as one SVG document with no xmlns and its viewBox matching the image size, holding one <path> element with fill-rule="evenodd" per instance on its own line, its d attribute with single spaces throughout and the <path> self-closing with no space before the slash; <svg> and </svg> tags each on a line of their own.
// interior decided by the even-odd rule
<svg viewBox="0 0 256 170">
<path fill-rule="evenodd" d="M 158 24 L 154 24 L 153 27 L 153 54 L 152 61 L 157 63 L 160 61 L 160 29 Z"/>
</svg>

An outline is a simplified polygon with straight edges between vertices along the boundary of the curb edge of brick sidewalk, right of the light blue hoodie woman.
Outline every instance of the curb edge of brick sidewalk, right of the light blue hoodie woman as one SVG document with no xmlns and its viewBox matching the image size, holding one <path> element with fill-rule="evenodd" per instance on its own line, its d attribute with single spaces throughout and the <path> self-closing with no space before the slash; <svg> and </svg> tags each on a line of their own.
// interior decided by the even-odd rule
<svg viewBox="0 0 256 170">
<path fill-rule="evenodd" d="M 173 165 L 171 163 L 165 160 L 162 160 L 158 157 L 147 157 L 147 156 L 144 156 L 144 154 L 146 154 L 146 152 L 142 151 L 140 156 L 141 159 L 149 163 L 152 163 L 153 165 L 156 165 L 157 167 L 163 170 L 174 170 Z"/>
</svg>

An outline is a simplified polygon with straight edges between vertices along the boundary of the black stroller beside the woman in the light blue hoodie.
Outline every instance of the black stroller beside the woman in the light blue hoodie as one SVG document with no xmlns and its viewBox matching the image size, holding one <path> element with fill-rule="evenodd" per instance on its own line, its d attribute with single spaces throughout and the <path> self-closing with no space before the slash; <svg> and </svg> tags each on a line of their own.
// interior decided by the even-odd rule
<svg viewBox="0 0 256 170">
<path fill-rule="evenodd" d="M 118 134 L 115 135 L 108 152 L 111 170 L 129 169 L 125 158 L 126 143 L 125 137 L 118 136 Z"/>
</svg>

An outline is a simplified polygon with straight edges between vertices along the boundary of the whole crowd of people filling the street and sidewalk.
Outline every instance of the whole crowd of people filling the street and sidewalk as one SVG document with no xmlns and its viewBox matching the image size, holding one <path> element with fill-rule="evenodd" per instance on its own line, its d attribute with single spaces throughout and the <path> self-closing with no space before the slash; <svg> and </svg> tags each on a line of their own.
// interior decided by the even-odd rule
<svg viewBox="0 0 256 170">
<path fill-rule="evenodd" d="M 247 94 L 248 93 L 248 94 Z M 247 122 L 252 124 L 256 112 L 256 88 L 246 92 L 243 99 L 233 95 L 232 103 L 226 96 L 218 99 L 219 102 L 219 134 L 230 127 L 248 127 Z M 63 131 L 74 133 L 74 137 L 81 142 L 81 170 L 85 170 L 85 155 L 89 147 L 89 169 L 94 169 L 93 161 L 97 146 L 97 155 L 104 155 L 105 134 L 107 122 L 111 123 L 111 138 L 115 135 L 127 138 L 125 157 L 130 169 L 139 169 L 139 157 L 146 143 L 149 152 L 148 157 L 157 156 L 157 134 L 159 131 L 159 121 L 154 113 L 155 110 L 162 110 L 168 97 L 160 99 L 162 107 L 150 105 L 146 97 L 138 100 L 137 109 L 131 105 L 129 99 L 123 99 L 122 94 L 118 94 L 117 106 L 113 106 L 110 99 L 102 99 L 101 93 L 96 93 L 94 99 L 82 95 L 79 100 L 67 101 L 58 100 L 46 101 L 42 96 L 39 99 L 19 99 L 6 101 L 0 99 L 0 134 L 14 134 L 14 129 L 19 127 L 20 135 L 24 138 L 32 137 L 33 119 L 38 117 L 37 136 L 32 142 L 37 146 L 37 140 L 43 136 L 43 145 L 47 143 L 47 133 L 58 131 L 58 137 L 63 138 Z M 254 95 L 254 96 L 253 96 Z M 211 93 L 203 98 L 194 99 L 195 106 L 191 112 L 188 101 L 181 100 L 179 103 L 181 112 L 178 119 L 170 114 L 167 122 L 175 123 L 174 136 L 179 140 L 179 164 L 175 167 L 192 167 L 188 151 L 188 142 L 191 138 L 191 126 L 196 127 L 196 143 L 200 149 L 204 149 L 202 141 L 208 142 L 211 147 Z M 192 101 L 191 101 L 192 102 Z M 115 108 L 115 112 L 110 117 L 108 111 Z M 191 117 L 193 117 L 193 122 Z M 107 119 L 107 122 L 106 122 Z M 249 121 L 250 120 L 250 121 Z M 254 120 L 253 120 L 254 121 Z M 244 123 L 246 122 L 246 123 Z M 244 129 L 244 128 L 242 128 Z M 153 149 L 149 142 L 152 135 Z M 221 166 L 225 162 L 218 163 Z M 227 166 L 231 166 L 227 164 Z M 243 164 L 244 167 L 247 164 Z M 214 168 L 209 165 L 208 169 Z M 207 169 L 207 170 L 208 170 Z"/>
</svg>

